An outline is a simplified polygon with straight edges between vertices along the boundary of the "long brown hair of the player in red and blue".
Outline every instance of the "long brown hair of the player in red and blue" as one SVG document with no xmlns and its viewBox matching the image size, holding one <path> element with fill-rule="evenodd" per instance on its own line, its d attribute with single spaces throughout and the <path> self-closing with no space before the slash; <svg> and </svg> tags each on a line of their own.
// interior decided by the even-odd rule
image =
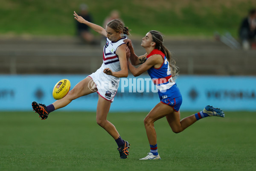
<svg viewBox="0 0 256 171">
<path fill-rule="evenodd" d="M 151 30 L 150 33 L 152 35 L 153 42 L 156 43 L 155 49 L 160 50 L 166 55 L 166 58 L 170 65 L 172 77 L 177 76 L 178 67 L 175 65 L 175 60 L 172 58 L 171 52 L 166 48 L 166 46 L 163 45 L 163 35 L 156 30 Z"/>
</svg>

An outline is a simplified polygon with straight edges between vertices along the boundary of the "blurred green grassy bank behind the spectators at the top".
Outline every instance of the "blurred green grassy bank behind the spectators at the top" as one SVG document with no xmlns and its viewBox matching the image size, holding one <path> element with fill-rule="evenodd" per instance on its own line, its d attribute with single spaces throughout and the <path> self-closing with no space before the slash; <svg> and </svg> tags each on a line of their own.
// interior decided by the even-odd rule
<svg viewBox="0 0 256 171">
<path fill-rule="evenodd" d="M 205 38 L 227 31 L 237 38 L 241 19 L 256 7 L 255 0 L 1 0 L 0 35 L 75 35 L 73 11 L 81 3 L 101 26 L 117 9 L 133 35 L 156 29 Z"/>
</svg>

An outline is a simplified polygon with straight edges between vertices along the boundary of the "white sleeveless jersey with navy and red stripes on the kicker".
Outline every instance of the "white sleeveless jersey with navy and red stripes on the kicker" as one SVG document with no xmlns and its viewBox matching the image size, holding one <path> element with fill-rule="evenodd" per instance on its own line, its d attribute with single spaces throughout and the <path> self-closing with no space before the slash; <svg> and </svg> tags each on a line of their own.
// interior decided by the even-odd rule
<svg viewBox="0 0 256 171">
<path fill-rule="evenodd" d="M 121 38 L 119 41 L 110 41 L 107 38 L 106 44 L 103 48 L 103 69 L 110 68 L 112 72 L 118 72 L 121 70 L 118 55 L 116 55 L 116 49 L 124 44 L 126 37 Z"/>
</svg>

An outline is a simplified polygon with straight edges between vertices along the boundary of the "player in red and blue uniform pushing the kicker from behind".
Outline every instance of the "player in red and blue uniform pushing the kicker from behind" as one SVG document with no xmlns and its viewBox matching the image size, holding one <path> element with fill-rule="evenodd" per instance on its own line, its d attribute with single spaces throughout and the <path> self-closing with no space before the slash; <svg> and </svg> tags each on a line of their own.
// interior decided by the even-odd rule
<svg viewBox="0 0 256 171">
<path fill-rule="evenodd" d="M 199 119 L 207 116 L 224 117 L 221 109 L 206 106 L 201 112 L 195 113 L 180 120 L 180 105 L 182 96 L 177 84 L 172 79 L 176 76 L 177 67 L 173 64 L 170 51 L 163 46 L 163 35 L 160 32 L 151 30 L 142 39 L 141 46 L 146 53 L 137 56 L 134 52 L 130 39 L 125 40 L 127 54 L 130 55 L 131 63 L 127 61 L 128 69 L 134 76 L 139 76 L 148 71 L 154 85 L 158 89 L 160 102 L 148 113 L 144 119 L 144 125 L 150 145 L 150 152 L 142 160 L 160 159 L 157 151 L 157 134 L 154 129 L 154 122 L 166 117 L 172 131 L 179 133 Z M 135 68 L 133 65 L 140 65 Z"/>
</svg>

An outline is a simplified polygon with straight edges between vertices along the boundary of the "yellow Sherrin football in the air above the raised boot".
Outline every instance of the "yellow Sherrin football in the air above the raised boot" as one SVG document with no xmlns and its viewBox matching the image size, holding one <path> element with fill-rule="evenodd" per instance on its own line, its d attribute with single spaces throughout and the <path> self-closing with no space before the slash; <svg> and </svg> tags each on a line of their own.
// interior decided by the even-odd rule
<svg viewBox="0 0 256 171">
<path fill-rule="evenodd" d="M 62 99 L 70 90 L 70 81 L 68 79 L 62 79 L 57 82 L 53 87 L 52 96 L 54 99 Z"/>
</svg>

